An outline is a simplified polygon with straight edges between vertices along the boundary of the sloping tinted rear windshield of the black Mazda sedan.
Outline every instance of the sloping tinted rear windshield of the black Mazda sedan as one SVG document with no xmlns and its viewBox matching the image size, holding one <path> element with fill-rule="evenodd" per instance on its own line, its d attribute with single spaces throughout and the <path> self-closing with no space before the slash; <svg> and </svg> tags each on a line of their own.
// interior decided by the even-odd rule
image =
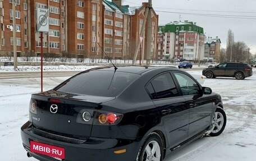
<svg viewBox="0 0 256 161">
<path fill-rule="evenodd" d="M 139 76 L 129 72 L 95 70 L 71 77 L 53 90 L 83 95 L 116 96 Z"/>
</svg>

